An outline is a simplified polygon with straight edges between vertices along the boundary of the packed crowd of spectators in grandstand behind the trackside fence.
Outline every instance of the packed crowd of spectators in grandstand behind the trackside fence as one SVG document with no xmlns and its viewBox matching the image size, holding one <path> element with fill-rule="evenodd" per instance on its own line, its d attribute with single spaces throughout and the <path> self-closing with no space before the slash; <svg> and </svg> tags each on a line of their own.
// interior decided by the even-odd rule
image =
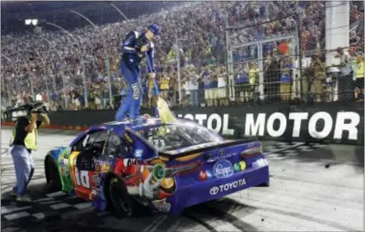
<svg viewBox="0 0 365 232">
<path fill-rule="evenodd" d="M 294 15 L 297 11 L 301 25 Z M 348 52 L 355 56 L 356 51 L 363 50 L 363 3 L 351 4 L 351 11 L 354 29 Z M 321 93 L 321 97 L 315 97 L 317 100 L 326 98 L 321 82 L 325 79 L 321 52 L 325 45 L 323 2 L 214 1 L 190 3 L 98 27 L 76 28 L 72 35 L 61 30 L 4 35 L 2 105 L 36 99 L 50 104 L 54 111 L 83 109 L 86 105 L 89 109 L 113 108 L 110 97 L 123 97 L 128 89 L 119 71 L 120 39 L 128 31 L 142 30 L 142 26 L 153 22 L 163 28 L 161 41 L 156 43 L 156 79 L 161 95 L 171 105 L 232 104 L 227 90 L 229 70 L 223 66 L 228 62 L 226 27 L 237 27 L 229 29 L 229 46 L 291 35 L 299 27 L 300 49 L 305 54 L 302 87 Z M 260 72 L 266 98 L 289 101 L 294 97 L 291 77 L 293 70 L 299 68 L 299 60 L 290 54 L 291 43 L 269 43 L 261 71 L 254 47 L 247 46 L 233 54 L 235 63 L 242 62 L 234 66 L 232 73 L 237 84 L 235 104 L 255 100 Z M 288 51 L 283 52 L 282 45 L 289 46 Z M 181 66 L 180 83 L 177 63 Z M 179 86 L 182 91 L 178 91 Z M 145 79 L 144 87 L 144 106 L 152 106 L 155 97 L 151 80 Z"/>
</svg>

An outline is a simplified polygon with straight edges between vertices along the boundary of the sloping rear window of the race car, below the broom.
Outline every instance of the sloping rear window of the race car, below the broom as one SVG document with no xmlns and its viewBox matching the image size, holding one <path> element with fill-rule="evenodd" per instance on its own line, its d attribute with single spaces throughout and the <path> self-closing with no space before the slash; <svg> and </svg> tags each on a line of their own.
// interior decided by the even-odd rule
<svg viewBox="0 0 365 232">
<path fill-rule="evenodd" d="M 169 151 L 201 143 L 221 141 L 221 136 L 195 123 L 162 125 L 137 131 L 157 151 Z"/>
</svg>

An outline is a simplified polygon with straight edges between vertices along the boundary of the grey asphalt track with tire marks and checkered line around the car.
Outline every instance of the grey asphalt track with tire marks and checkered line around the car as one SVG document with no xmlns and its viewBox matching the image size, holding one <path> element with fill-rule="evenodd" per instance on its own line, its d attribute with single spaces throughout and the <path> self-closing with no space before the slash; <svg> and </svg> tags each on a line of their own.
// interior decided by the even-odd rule
<svg viewBox="0 0 365 232">
<path fill-rule="evenodd" d="M 190 207 L 178 218 L 142 214 L 120 220 L 96 212 L 90 203 L 60 192 L 47 194 L 43 159 L 68 144 L 73 131 L 43 130 L 34 152 L 33 202 L 10 197 L 15 173 L 1 131 L 2 231 L 363 231 L 364 148 L 315 143 L 262 142 L 270 166 L 270 187 L 252 188 Z"/>
</svg>

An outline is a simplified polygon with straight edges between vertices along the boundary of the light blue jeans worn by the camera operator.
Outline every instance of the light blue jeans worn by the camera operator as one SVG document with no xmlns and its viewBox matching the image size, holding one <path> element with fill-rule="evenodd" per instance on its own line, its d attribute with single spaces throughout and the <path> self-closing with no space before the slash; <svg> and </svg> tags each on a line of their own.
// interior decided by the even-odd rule
<svg viewBox="0 0 365 232">
<path fill-rule="evenodd" d="M 24 146 L 14 145 L 11 153 L 17 176 L 17 184 L 12 190 L 18 197 L 23 197 L 26 195 L 27 185 L 35 172 L 35 164 L 33 163 L 32 155 Z"/>
</svg>

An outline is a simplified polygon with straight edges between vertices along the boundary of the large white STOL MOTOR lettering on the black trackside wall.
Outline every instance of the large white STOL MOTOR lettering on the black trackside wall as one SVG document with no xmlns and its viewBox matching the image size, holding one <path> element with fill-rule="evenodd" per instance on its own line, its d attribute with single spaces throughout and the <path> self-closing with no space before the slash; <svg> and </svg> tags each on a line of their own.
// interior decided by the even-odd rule
<svg viewBox="0 0 365 232">
<path fill-rule="evenodd" d="M 244 113 L 235 115 L 236 120 L 241 120 L 237 125 L 233 125 L 233 122 L 229 120 L 228 113 L 221 115 L 217 113 L 178 114 L 177 116 L 196 120 L 200 125 L 221 135 L 234 135 L 237 127 L 244 127 L 241 129 L 245 131 L 245 136 L 280 137 L 286 132 L 285 136 L 291 135 L 293 138 L 309 134 L 314 139 L 345 138 L 354 141 L 358 139 L 358 126 L 361 120 L 361 116 L 357 112 L 337 112 L 332 115 L 329 112 Z M 318 129 L 317 124 L 321 125 L 321 129 Z M 288 125 L 292 126 L 288 127 Z M 344 133 L 346 131 L 348 133 Z"/>
</svg>

